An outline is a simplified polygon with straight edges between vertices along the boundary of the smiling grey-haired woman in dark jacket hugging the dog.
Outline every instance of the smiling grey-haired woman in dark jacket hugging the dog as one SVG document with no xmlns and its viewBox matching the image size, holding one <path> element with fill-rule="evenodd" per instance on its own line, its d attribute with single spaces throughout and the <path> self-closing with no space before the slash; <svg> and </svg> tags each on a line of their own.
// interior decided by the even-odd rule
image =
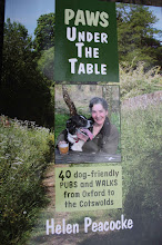
<svg viewBox="0 0 162 245">
<path fill-rule="evenodd" d="M 119 133 L 117 127 L 108 118 L 108 104 L 105 99 L 99 97 L 92 98 L 89 108 L 93 121 L 93 139 L 83 139 L 85 140 L 82 147 L 83 151 L 115 154 L 119 144 Z M 82 136 L 78 137 L 82 139 Z"/>
</svg>

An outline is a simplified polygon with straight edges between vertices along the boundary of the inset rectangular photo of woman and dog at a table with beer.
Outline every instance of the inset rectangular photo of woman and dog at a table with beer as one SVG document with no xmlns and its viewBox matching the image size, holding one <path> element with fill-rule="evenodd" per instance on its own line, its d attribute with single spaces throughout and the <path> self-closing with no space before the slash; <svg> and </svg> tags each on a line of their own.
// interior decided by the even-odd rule
<svg viewBox="0 0 162 245">
<path fill-rule="evenodd" d="M 119 105 L 119 86 L 57 85 L 55 164 L 121 161 Z"/>
</svg>

